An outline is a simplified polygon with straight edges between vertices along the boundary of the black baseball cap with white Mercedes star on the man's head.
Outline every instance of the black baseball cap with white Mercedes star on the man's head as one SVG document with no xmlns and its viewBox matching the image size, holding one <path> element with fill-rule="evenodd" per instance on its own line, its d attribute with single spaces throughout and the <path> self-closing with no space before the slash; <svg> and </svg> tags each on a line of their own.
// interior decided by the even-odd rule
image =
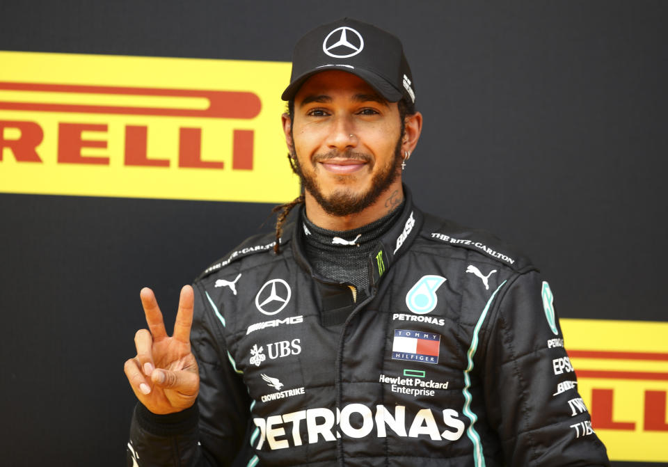
<svg viewBox="0 0 668 467">
<path fill-rule="evenodd" d="M 292 100 L 312 75 L 341 70 L 356 74 L 390 102 L 415 103 L 415 84 L 401 41 L 388 31 L 357 19 L 342 18 L 306 33 L 294 46 L 290 84 L 283 100 Z"/>
</svg>

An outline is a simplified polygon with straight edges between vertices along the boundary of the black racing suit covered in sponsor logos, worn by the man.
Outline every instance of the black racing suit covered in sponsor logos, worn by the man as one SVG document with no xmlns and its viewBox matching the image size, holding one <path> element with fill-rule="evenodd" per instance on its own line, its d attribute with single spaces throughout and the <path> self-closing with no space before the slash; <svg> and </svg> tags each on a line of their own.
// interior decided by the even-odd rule
<svg viewBox="0 0 668 467">
<path fill-rule="evenodd" d="M 194 284 L 198 404 L 138 404 L 129 465 L 609 465 L 548 283 L 406 196 L 360 303 L 312 272 L 296 211 L 279 255 L 252 237 L 209 267 Z"/>
</svg>

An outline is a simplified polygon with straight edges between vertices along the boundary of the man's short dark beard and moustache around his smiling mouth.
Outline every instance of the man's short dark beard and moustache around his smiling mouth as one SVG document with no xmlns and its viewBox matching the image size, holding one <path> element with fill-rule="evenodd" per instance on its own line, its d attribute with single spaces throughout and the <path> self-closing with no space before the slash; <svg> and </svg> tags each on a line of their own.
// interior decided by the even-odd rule
<svg viewBox="0 0 668 467">
<path fill-rule="evenodd" d="M 299 165 L 299 159 L 294 156 L 291 158 L 292 170 L 296 175 L 299 176 L 301 180 L 301 186 L 305 191 L 308 191 L 317 203 L 324 209 L 327 214 L 331 216 L 348 216 L 350 214 L 357 214 L 362 212 L 367 207 L 376 203 L 378 198 L 381 196 L 383 191 L 387 190 L 392 183 L 397 180 L 399 174 L 401 173 L 401 162 L 404 158 L 401 155 L 401 139 L 403 138 L 403 131 L 401 136 L 397 140 L 395 145 L 395 157 L 392 158 L 392 161 L 383 168 L 382 171 L 376 173 L 372 180 L 371 188 L 366 193 L 361 195 L 355 195 L 349 190 L 335 191 L 331 196 L 326 197 L 320 190 L 320 186 L 316 177 L 313 175 L 305 175 L 301 166 Z M 335 157 L 336 154 L 327 154 L 322 156 L 316 156 L 315 159 L 324 160 L 331 157 Z M 367 155 L 347 152 L 347 157 L 351 159 L 360 159 L 360 160 L 371 160 Z M 315 161 L 314 161 L 315 162 Z"/>
</svg>

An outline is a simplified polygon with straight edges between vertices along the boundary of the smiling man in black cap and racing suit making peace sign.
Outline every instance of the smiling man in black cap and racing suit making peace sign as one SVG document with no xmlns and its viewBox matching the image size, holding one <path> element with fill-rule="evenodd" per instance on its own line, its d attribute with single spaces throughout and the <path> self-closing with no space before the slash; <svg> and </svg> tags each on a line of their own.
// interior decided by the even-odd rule
<svg viewBox="0 0 668 467">
<path fill-rule="evenodd" d="M 422 128 L 401 42 L 320 26 L 283 99 L 303 196 L 184 287 L 172 337 L 141 291 L 129 462 L 609 465 L 548 283 L 401 184 Z"/>
</svg>

